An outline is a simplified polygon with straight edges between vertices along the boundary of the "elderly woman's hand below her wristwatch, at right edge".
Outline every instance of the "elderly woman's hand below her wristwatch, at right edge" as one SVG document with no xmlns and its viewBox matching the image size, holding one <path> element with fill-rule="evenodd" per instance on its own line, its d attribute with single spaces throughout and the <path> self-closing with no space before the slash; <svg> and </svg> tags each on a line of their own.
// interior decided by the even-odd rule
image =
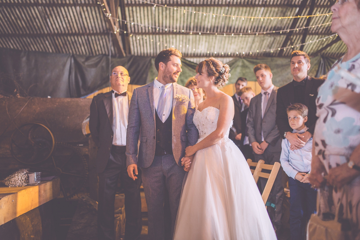
<svg viewBox="0 0 360 240">
<path fill-rule="evenodd" d="M 359 175 L 359 171 L 349 168 L 347 163 L 344 163 L 329 170 L 327 184 L 341 188 Z"/>
</svg>

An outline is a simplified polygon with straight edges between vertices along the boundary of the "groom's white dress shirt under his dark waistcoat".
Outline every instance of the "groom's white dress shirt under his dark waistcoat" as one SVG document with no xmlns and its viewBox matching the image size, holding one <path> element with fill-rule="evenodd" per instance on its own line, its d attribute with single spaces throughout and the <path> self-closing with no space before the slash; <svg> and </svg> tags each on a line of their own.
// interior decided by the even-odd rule
<svg viewBox="0 0 360 240">
<path fill-rule="evenodd" d="M 157 105 L 159 103 L 159 97 L 161 94 L 161 87 L 162 87 L 162 83 L 160 83 L 159 81 L 157 81 L 157 79 L 155 78 L 154 80 L 154 105 L 155 105 L 155 110 L 157 110 Z M 163 116 L 159 116 L 160 120 L 162 122 L 165 122 L 166 119 L 169 117 L 170 112 L 171 112 L 171 108 L 172 108 L 172 83 L 168 83 L 165 85 L 165 91 L 166 91 L 166 103 L 165 103 L 165 110 L 164 110 L 164 114 Z"/>
</svg>

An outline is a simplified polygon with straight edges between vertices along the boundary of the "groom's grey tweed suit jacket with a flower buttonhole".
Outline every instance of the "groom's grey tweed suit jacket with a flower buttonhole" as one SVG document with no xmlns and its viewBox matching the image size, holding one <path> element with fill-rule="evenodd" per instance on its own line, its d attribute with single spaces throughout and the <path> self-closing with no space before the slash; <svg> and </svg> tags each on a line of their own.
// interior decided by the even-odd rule
<svg viewBox="0 0 360 240">
<path fill-rule="evenodd" d="M 195 103 L 193 92 L 177 83 L 172 83 L 172 153 L 181 166 L 185 148 L 196 144 L 199 132 L 193 123 Z M 186 99 L 176 96 L 184 95 Z M 156 126 L 154 105 L 154 82 L 134 89 L 129 109 L 126 132 L 126 162 L 147 168 L 155 156 Z M 140 137 L 139 155 L 138 140 Z"/>
</svg>

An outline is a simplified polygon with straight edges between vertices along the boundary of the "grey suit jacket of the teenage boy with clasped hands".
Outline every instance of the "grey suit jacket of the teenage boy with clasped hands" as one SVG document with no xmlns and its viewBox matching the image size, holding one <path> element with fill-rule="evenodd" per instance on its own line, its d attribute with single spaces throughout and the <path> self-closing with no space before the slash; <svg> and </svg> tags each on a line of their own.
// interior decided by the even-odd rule
<svg viewBox="0 0 360 240">
<path fill-rule="evenodd" d="M 273 91 L 271 91 L 264 118 L 261 117 L 261 93 L 253 97 L 250 101 L 248 119 L 246 122 L 249 142 L 258 142 L 260 144 L 262 142 L 262 131 L 264 140 L 269 142 L 269 146 L 266 149 L 270 152 L 281 151 L 282 138 L 280 137 L 278 127 L 275 123 L 277 91 L 278 87 L 274 87 Z"/>
</svg>

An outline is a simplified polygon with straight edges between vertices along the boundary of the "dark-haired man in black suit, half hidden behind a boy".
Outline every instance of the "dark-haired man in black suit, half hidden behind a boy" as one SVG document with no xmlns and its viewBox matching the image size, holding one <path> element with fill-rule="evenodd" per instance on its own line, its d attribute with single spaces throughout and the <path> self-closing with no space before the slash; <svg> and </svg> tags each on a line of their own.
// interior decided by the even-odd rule
<svg viewBox="0 0 360 240">
<path fill-rule="evenodd" d="M 243 100 L 240 98 L 239 92 L 240 90 L 247 85 L 247 79 L 244 77 L 239 77 L 238 80 L 235 82 L 235 94 L 232 96 L 234 100 L 234 119 L 233 119 L 233 126 L 230 128 L 229 131 L 229 138 L 233 140 L 235 145 L 241 149 L 242 142 L 242 124 L 241 124 L 241 112 L 246 108 L 246 105 L 243 103 Z"/>
</svg>

